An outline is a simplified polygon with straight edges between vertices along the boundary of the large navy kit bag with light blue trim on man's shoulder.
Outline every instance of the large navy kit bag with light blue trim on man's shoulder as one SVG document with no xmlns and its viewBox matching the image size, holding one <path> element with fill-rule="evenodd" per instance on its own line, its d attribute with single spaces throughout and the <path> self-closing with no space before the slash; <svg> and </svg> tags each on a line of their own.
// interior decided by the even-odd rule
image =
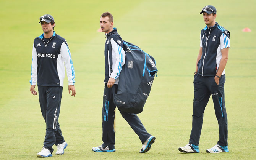
<svg viewBox="0 0 256 160">
<path fill-rule="evenodd" d="M 125 65 L 120 72 L 114 104 L 122 111 L 138 114 L 143 111 L 158 70 L 152 56 L 129 42 L 123 41 L 123 45 Z"/>
</svg>

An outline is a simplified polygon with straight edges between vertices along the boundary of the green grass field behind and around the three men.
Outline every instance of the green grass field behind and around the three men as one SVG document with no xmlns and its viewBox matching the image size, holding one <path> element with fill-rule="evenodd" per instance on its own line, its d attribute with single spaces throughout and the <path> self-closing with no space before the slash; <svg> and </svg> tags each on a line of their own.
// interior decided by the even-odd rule
<svg viewBox="0 0 256 160">
<path fill-rule="evenodd" d="M 203 6 L 217 8 L 216 21 L 230 30 L 225 99 L 229 153 L 206 154 L 219 139 L 212 98 L 204 114 L 199 154 L 183 154 L 191 131 L 193 75 Z M 52 14 L 57 34 L 66 38 L 76 73 L 76 97 L 64 81 L 59 123 L 68 147 L 50 159 L 183 160 L 255 159 L 256 1 L 182 0 L 0 1 L 0 159 L 37 159 L 45 136 L 38 96 L 29 91 L 32 43 L 42 34 L 39 16 Z M 138 114 L 156 142 L 139 154 L 141 142 L 117 111 L 114 153 L 95 153 L 102 143 L 104 33 L 100 15 L 109 11 L 122 38 L 154 56 L 159 70 L 151 94 Z M 249 27 L 252 32 L 242 32 Z M 37 87 L 36 87 L 36 91 Z"/>
</svg>

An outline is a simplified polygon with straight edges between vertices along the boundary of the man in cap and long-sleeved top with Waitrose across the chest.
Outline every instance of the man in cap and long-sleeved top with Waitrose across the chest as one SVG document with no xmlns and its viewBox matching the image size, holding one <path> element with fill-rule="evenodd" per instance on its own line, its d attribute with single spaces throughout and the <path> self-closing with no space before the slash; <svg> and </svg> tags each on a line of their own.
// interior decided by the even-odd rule
<svg viewBox="0 0 256 160">
<path fill-rule="evenodd" d="M 34 39 L 30 91 L 31 94 L 37 95 L 35 91 L 37 84 L 40 108 L 46 123 L 44 146 L 37 157 L 51 157 L 53 144 L 57 146 L 56 154 L 58 155 L 64 154 L 64 149 L 68 146 L 62 136 L 58 117 L 65 67 L 68 76 L 68 91 L 69 93 L 72 91 L 71 96 L 74 97 L 76 95 L 75 72 L 66 40 L 54 31 L 53 17 L 45 14 L 39 19 L 44 33 Z"/>
</svg>

